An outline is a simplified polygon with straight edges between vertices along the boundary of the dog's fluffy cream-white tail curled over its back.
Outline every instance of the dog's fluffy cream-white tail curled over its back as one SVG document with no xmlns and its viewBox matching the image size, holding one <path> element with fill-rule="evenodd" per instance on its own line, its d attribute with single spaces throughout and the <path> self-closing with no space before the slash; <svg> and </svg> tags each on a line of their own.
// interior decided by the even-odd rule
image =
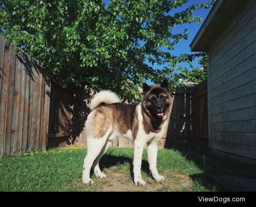
<svg viewBox="0 0 256 207">
<path fill-rule="evenodd" d="M 101 90 L 91 100 L 90 109 L 93 110 L 101 103 L 108 105 L 113 103 L 120 103 L 120 100 L 112 91 Z"/>
</svg>

